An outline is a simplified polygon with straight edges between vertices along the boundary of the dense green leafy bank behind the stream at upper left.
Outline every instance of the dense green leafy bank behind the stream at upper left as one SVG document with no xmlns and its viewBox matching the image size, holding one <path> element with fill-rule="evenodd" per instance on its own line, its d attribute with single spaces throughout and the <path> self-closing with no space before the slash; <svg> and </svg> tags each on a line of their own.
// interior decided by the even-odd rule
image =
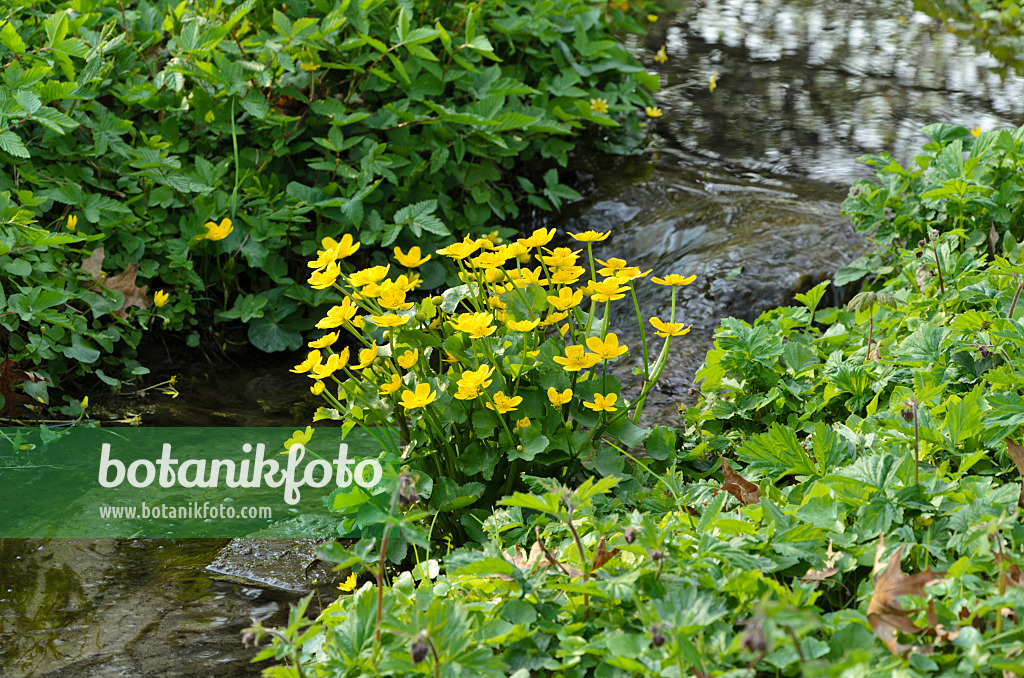
<svg viewBox="0 0 1024 678">
<path fill-rule="evenodd" d="M 639 29 L 591 0 L 8 3 L 5 351 L 116 386 L 140 368 L 101 356 L 133 348 L 154 313 L 191 346 L 227 323 L 260 349 L 298 348 L 338 300 L 305 284 L 323 238 L 356 236 L 369 261 L 383 256 L 370 246 L 429 253 L 575 198 L 559 170 L 578 132 L 613 127 L 599 147 L 635 150 L 657 78 L 611 32 Z M 71 217 L 87 242 L 39 235 Z M 224 218 L 230 232 L 206 238 Z M 134 265 L 148 291 L 93 282 Z"/>
</svg>

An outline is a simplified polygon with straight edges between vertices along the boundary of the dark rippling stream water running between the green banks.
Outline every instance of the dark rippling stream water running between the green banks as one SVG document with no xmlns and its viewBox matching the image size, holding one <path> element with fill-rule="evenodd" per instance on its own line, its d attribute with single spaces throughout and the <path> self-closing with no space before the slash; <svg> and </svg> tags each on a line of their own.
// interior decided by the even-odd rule
<svg viewBox="0 0 1024 678">
<path fill-rule="evenodd" d="M 849 181 L 867 174 L 859 156 L 889 151 L 906 163 L 929 123 L 1015 127 L 1024 112 L 1019 79 L 991 75 L 987 57 L 910 2 L 682 4 L 632 45 L 663 76 L 651 149 L 582 159 L 573 169 L 584 200 L 545 222 L 611 229 L 601 258 L 697 276 L 676 311 L 693 331 L 673 344 L 648 422 L 671 423 L 687 400 L 719 319 L 753 320 L 862 251 L 839 209 Z M 657 65 L 662 45 L 669 60 Z M 667 320 L 665 290 L 645 289 L 645 311 Z M 635 332 L 621 336 L 639 343 Z M 151 425 L 305 425 L 313 405 L 306 380 L 287 373 L 293 357 L 194 364 L 179 373 L 176 399 L 106 407 Z M 627 390 L 637 388 L 628 373 L 618 371 Z M 214 579 L 204 565 L 221 546 L 0 540 L 0 676 L 259 675 L 240 631 L 250 618 L 282 623 L 296 594 Z"/>
</svg>

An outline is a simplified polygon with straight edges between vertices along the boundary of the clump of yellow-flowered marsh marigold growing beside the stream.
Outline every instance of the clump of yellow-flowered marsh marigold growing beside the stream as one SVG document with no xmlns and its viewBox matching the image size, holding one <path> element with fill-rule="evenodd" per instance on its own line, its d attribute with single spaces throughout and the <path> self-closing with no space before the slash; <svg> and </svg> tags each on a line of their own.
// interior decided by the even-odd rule
<svg viewBox="0 0 1024 678">
<path fill-rule="evenodd" d="M 293 372 L 327 401 L 318 420 L 365 428 L 392 461 L 429 477 L 420 494 L 431 496 L 441 534 L 465 537 L 472 509 L 493 506 L 524 477 L 625 477 L 636 462 L 630 451 L 651 436 L 638 422 L 673 338 L 688 330 L 675 317 L 676 293 L 694 279 L 654 279 L 672 287 L 672 309 L 668 321 L 645 319 L 636 286 L 650 271 L 595 260 L 593 244 L 609 234 L 570 236 L 586 249 L 550 247 L 555 232 L 542 228 L 514 242 L 467 237 L 433 254 L 395 248 L 390 263 L 361 269 L 348 262 L 359 244 L 345 236 L 325 239 L 309 262 L 309 285 L 343 301 L 316 325 L 324 335 Z M 424 296 L 415 268 L 435 256 L 462 285 Z M 613 303 L 632 303 L 638 345 L 610 330 Z M 665 339 L 656 355 L 648 323 Z M 629 351 L 642 354 L 644 377 L 632 399 L 608 371 Z M 642 456 L 670 463 L 675 434 L 653 438 Z"/>
</svg>

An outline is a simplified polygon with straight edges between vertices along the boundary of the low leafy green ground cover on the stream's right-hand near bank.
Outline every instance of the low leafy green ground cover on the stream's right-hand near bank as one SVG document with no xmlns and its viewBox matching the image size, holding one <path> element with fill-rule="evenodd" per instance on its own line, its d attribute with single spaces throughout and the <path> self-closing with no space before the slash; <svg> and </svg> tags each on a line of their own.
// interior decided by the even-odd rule
<svg viewBox="0 0 1024 678">
<path fill-rule="evenodd" d="M 499 466 L 508 490 L 461 548 L 432 539 L 409 464 L 380 490 L 383 533 L 324 550 L 353 567 L 343 595 L 249 630 L 283 662 L 267 675 L 1024 674 L 1024 244 L 999 195 L 1024 129 L 926 133 L 909 169 L 867 159 L 845 204 L 880 241 L 836 277 L 862 291 L 724 321 L 668 464 L 641 431 L 582 482 Z"/>
</svg>

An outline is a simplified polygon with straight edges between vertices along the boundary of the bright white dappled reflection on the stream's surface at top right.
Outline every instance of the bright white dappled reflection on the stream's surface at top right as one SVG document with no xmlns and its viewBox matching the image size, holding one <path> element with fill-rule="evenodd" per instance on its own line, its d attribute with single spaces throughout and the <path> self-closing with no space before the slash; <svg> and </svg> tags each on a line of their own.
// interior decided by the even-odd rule
<svg viewBox="0 0 1024 678">
<path fill-rule="evenodd" d="M 657 132 L 759 173 L 846 184 L 863 154 L 912 157 L 927 124 L 1012 127 L 1024 112 L 1024 81 L 910 2 L 684 0 L 645 46 L 662 44 Z"/>
</svg>

